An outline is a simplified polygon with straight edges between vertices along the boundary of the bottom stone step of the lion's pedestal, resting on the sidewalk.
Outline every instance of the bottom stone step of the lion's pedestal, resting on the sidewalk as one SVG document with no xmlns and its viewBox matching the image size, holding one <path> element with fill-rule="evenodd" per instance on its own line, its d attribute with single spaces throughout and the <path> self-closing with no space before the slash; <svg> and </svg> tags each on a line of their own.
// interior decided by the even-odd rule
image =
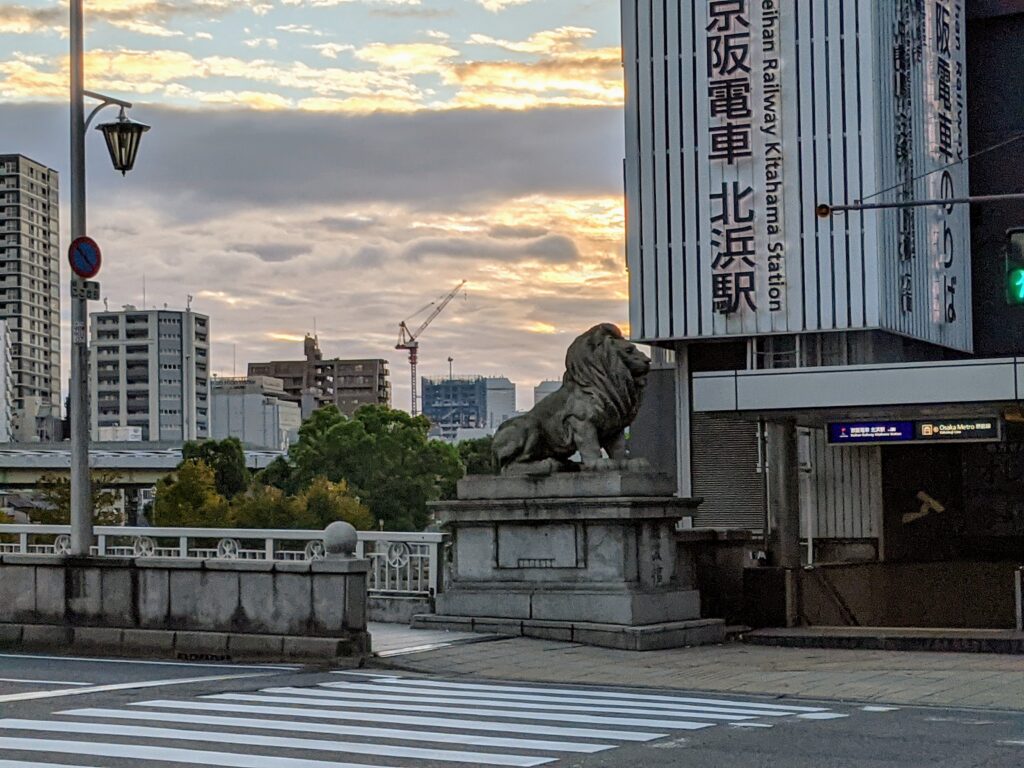
<svg viewBox="0 0 1024 768">
<path fill-rule="evenodd" d="M 628 627 L 592 622 L 422 614 L 414 616 L 413 628 L 534 637 L 622 650 L 660 650 L 725 641 L 725 622 L 721 618 L 697 618 Z"/>
</svg>

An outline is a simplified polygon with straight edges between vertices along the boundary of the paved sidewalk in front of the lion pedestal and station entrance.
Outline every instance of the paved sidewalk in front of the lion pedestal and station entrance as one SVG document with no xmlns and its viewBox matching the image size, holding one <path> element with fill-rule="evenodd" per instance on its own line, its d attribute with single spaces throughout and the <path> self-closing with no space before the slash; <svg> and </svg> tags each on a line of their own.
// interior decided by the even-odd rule
<svg viewBox="0 0 1024 768">
<path fill-rule="evenodd" d="M 644 652 L 526 638 L 375 659 L 444 676 L 1024 712 L 1024 657 L 727 644 Z"/>
</svg>

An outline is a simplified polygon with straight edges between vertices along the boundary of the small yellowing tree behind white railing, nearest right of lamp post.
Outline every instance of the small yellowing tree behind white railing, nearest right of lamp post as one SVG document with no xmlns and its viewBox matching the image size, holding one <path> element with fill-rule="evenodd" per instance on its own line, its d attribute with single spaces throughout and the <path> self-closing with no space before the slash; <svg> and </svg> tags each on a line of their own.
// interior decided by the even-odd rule
<svg viewBox="0 0 1024 768">
<path fill-rule="evenodd" d="M 174 475 L 157 483 L 154 525 L 222 528 L 229 523 L 228 512 L 227 500 L 217 493 L 216 473 L 202 461 L 181 462 Z"/>
</svg>

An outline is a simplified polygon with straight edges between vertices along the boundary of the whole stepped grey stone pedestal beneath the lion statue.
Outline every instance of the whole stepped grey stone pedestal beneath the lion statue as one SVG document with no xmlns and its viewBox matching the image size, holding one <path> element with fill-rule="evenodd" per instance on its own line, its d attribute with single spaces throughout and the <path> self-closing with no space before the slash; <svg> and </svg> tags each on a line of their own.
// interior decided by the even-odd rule
<svg viewBox="0 0 1024 768">
<path fill-rule="evenodd" d="M 453 556 L 436 616 L 451 626 L 597 645 L 720 640 L 676 570 L 676 522 L 698 502 L 667 475 L 579 472 L 471 476 L 434 511 Z"/>
</svg>

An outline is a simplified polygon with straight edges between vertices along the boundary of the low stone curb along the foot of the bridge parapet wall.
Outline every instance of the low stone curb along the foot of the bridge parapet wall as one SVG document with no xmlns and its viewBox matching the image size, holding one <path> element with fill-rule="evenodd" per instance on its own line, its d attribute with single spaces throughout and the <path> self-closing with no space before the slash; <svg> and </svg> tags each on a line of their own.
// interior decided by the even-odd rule
<svg viewBox="0 0 1024 768">
<path fill-rule="evenodd" d="M 370 636 L 346 639 L 0 624 L 0 649 L 88 652 L 186 662 L 304 662 L 351 667 L 360 665 L 370 655 Z"/>
</svg>

